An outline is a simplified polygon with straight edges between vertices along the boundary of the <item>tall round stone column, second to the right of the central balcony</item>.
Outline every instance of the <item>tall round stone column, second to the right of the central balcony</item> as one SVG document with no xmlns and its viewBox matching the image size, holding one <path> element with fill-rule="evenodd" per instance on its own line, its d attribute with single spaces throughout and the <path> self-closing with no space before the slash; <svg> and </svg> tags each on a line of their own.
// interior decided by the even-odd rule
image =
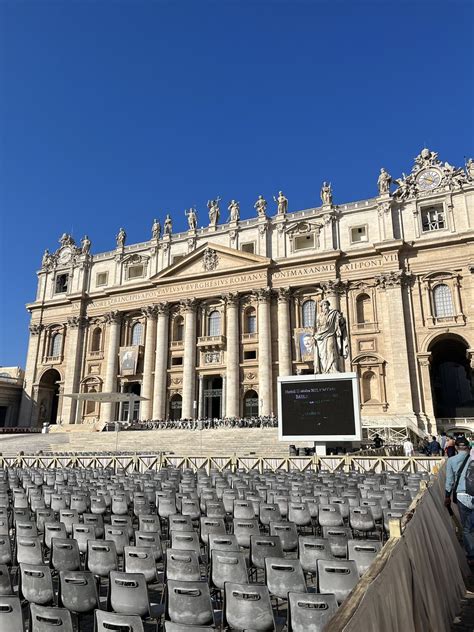
<svg viewBox="0 0 474 632">
<path fill-rule="evenodd" d="M 270 415 L 272 401 L 272 336 L 270 289 L 257 290 L 258 298 L 258 399 L 259 414 Z"/>
</svg>

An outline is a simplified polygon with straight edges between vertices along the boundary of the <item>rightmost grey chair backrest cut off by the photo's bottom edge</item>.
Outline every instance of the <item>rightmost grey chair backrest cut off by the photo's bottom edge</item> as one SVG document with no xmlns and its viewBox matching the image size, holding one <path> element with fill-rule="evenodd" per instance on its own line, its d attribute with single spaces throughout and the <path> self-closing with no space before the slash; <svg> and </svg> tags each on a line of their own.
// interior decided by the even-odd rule
<svg viewBox="0 0 474 632">
<path fill-rule="evenodd" d="M 335 595 L 288 593 L 288 632 L 323 632 L 338 608 Z"/>
</svg>

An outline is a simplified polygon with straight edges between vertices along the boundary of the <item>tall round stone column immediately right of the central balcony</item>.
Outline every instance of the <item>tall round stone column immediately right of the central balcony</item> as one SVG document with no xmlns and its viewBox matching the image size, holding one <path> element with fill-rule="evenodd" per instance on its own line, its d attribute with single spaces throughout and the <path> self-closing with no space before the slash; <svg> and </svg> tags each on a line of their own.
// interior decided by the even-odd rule
<svg viewBox="0 0 474 632">
<path fill-rule="evenodd" d="M 237 294 L 226 296 L 226 336 L 227 336 L 227 389 L 226 414 L 239 416 L 239 377 L 240 377 L 240 340 L 239 340 L 239 298 Z"/>
</svg>

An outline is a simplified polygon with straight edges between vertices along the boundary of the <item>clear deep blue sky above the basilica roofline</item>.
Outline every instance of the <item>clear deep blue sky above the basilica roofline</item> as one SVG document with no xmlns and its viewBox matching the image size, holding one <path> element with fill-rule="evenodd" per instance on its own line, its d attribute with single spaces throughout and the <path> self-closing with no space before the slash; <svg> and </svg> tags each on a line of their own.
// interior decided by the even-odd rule
<svg viewBox="0 0 474 632">
<path fill-rule="evenodd" d="M 424 146 L 473 152 L 474 3 L 0 4 L 0 365 L 24 366 L 61 233 L 109 250 L 220 195 L 253 216 L 375 194 Z"/>
</svg>

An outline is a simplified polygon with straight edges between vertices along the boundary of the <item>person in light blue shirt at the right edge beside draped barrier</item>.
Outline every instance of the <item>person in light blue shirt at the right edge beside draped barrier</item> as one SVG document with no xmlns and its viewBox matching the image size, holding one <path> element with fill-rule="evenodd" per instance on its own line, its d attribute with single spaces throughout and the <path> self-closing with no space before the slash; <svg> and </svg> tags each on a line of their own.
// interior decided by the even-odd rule
<svg viewBox="0 0 474 632">
<path fill-rule="evenodd" d="M 474 568 L 474 496 L 466 493 L 466 472 L 471 461 L 469 441 L 458 437 L 456 448 L 458 453 L 446 465 L 444 504 L 450 508 L 451 501 L 457 503 L 467 561 Z"/>
</svg>

